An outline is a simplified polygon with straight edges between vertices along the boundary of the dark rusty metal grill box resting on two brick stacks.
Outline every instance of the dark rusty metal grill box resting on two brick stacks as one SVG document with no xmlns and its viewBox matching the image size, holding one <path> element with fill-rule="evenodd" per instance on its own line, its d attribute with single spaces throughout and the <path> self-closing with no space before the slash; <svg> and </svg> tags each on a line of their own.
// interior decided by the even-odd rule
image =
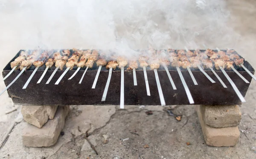
<svg viewBox="0 0 256 159">
<path fill-rule="evenodd" d="M 205 50 L 201 50 L 205 51 Z M 216 50 L 215 50 L 216 51 Z M 14 61 L 17 55 L 10 61 Z M 10 71 L 10 62 L 3 69 L 3 77 L 5 77 Z M 247 62 L 244 61 L 244 66 L 249 69 L 251 73 L 254 74 L 253 67 Z M 84 79 L 81 84 L 79 84 L 80 78 L 84 73 L 82 68 L 76 74 L 72 80 L 67 80 L 73 73 L 76 71 L 77 67 L 74 67 L 73 70 L 69 70 L 64 78 L 58 85 L 54 83 L 58 80 L 61 74 L 64 72 L 58 70 L 52 81 L 49 84 L 45 84 L 55 69 L 52 66 L 44 76 L 40 84 L 37 84 L 38 79 L 44 72 L 45 65 L 40 67 L 35 73 L 32 81 L 30 81 L 26 89 L 22 89 L 23 85 L 26 83 L 29 76 L 32 74 L 35 67 L 31 67 L 17 79 L 17 81 L 9 87 L 8 94 L 12 98 L 15 104 L 29 104 L 29 105 L 87 105 L 87 104 L 120 104 L 120 83 L 121 83 L 121 71 L 116 69 L 112 73 L 108 94 L 106 101 L 102 102 L 102 94 L 105 89 L 105 85 L 108 78 L 108 70 L 105 67 L 102 67 L 102 71 L 99 74 L 99 79 L 95 89 L 92 89 L 93 81 L 96 76 L 97 67 L 93 66 L 92 69 L 88 69 Z M 160 79 L 160 84 L 163 90 L 164 99 L 166 105 L 183 105 L 189 104 L 187 95 L 185 93 L 184 87 L 178 75 L 176 68 L 171 66 L 168 67 L 170 75 L 177 87 L 177 90 L 172 89 L 172 85 L 169 81 L 169 78 L 166 74 L 166 71 L 160 67 L 157 70 L 158 76 Z M 242 68 L 236 68 L 239 73 L 244 76 L 249 82 L 251 82 L 252 77 L 244 71 Z M 235 91 L 231 87 L 231 84 L 227 81 L 227 78 L 220 70 L 215 70 L 219 77 L 227 85 L 227 88 L 224 88 L 215 75 L 210 70 L 205 70 L 205 72 L 214 80 L 216 83 L 211 83 L 206 76 L 199 71 L 199 69 L 192 70 L 193 75 L 195 76 L 198 85 L 194 85 L 192 78 L 189 75 L 189 72 L 185 69 L 181 69 L 183 77 L 185 78 L 186 84 L 189 87 L 189 90 L 192 94 L 192 97 L 195 101 L 195 104 L 216 104 L 216 105 L 229 105 L 229 104 L 241 104 L 240 99 L 236 95 Z M 246 95 L 248 87 L 250 85 L 245 83 L 234 71 L 226 70 L 227 74 L 236 84 L 237 88 L 243 96 Z M 14 71 L 6 80 L 6 86 L 12 82 L 12 80 L 20 73 L 20 70 Z M 145 79 L 143 75 L 143 70 L 141 68 L 136 69 L 137 75 L 137 86 L 134 86 L 133 83 L 133 72 L 125 70 L 124 79 L 125 79 L 125 105 L 160 105 L 160 97 L 157 90 L 157 83 L 153 70 L 147 68 L 148 83 L 150 87 L 151 96 L 147 96 Z"/>
</svg>

